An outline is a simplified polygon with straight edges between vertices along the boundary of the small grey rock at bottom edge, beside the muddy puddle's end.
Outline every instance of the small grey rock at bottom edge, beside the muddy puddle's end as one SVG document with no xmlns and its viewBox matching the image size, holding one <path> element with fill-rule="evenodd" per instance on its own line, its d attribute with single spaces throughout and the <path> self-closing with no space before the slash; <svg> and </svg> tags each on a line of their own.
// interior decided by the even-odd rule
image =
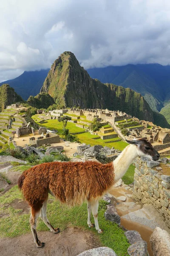
<svg viewBox="0 0 170 256">
<path fill-rule="evenodd" d="M 147 256 L 147 242 L 137 241 L 127 249 L 130 256 Z"/>
</svg>

